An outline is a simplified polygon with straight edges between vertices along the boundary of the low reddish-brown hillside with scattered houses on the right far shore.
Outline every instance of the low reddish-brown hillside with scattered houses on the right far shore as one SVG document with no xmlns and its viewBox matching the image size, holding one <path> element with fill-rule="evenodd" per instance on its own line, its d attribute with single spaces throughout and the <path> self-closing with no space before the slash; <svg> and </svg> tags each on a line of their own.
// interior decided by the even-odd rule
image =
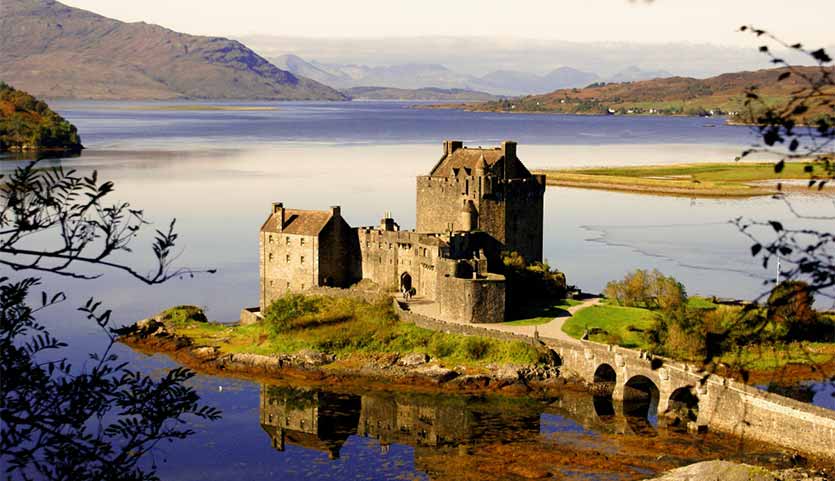
<svg viewBox="0 0 835 481">
<path fill-rule="evenodd" d="M 816 75 L 816 67 L 795 67 Z M 757 86 L 759 95 L 770 105 L 785 102 L 804 83 L 796 75 L 777 78 L 785 68 L 736 72 L 707 79 L 669 77 L 639 82 L 592 84 L 582 89 L 562 89 L 545 95 L 530 95 L 478 105 L 469 110 L 499 112 L 552 112 L 566 114 L 637 115 L 745 115 L 745 91 Z M 449 106 L 447 106 L 449 107 Z M 810 112 L 814 114 L 814 112 Z"/>
</svg>

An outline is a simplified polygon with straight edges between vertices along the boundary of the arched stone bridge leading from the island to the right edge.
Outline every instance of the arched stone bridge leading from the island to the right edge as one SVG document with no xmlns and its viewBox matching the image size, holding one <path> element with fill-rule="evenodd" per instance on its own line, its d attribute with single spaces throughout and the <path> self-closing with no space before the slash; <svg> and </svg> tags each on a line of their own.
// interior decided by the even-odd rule
<svg viewBox="0 0 835 481">
<path fill-rule="evenodd" d="M 633 349 L 542 341 L 560 355 L 563 372 L 585 380 L 596 396 L 620 401 L 618 414 L 657 415 L 660 425 L 710 427 L 835 458 L 835 411 Z"/>
</svg>

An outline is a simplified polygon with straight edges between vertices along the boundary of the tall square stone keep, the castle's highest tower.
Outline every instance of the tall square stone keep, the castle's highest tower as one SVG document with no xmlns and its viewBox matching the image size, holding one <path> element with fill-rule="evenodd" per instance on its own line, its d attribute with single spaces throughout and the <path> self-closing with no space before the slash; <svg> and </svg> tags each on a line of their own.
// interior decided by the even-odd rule
<svg viewBox="0 0 835 481">
<path fill-rule="evenodd" d="M 516 142 L 472 148 L 447 140 L 429 175 L 417 178 L 417 231 L 477 229 L 495 241 L 494 255 L 509 250 L 540 261 L 544 195 L 545 176 L 530 173 Z"/>
</svg>

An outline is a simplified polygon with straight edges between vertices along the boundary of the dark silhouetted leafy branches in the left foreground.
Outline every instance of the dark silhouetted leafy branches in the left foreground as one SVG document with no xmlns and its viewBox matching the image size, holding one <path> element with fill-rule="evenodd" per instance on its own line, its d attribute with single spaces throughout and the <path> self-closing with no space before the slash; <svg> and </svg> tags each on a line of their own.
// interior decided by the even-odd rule
<svg viewBox="0 0 835 481">
<path fill-rule="evenodd" d="M 37 162 L 0 176 L 0 264 L 21 273 L 48 272 L 93 279 L 121 271 L 159 284 L 197 271 L 173 267 L 174 221 L 158 230 L 147 272 L 116 259 L 147 225 L 128 203 L 105 204 L 112 182 Z M 38 247 L 45 246 L 45 247 Z M 211 272 L 211 271 L 207 271 Z M 87 300 L 78 310 L 106 336 L 102 352 L 74 368 L 65 342 L 37 316 L 67 302 L 62 292 L 35 292 L 36 277 L 0 276 L 0 464 L 9 479 L 153 480 L 156 465 L 142 463 L 160 441 L 182 439 L 189 418 L 215 420 L 186 385 L 194 373 L 177 368 L 161 379 L 131 369 L 113 354 L 112 311 Z M 39 301 L 39 302 L 38 302 Z"/>
</svg>

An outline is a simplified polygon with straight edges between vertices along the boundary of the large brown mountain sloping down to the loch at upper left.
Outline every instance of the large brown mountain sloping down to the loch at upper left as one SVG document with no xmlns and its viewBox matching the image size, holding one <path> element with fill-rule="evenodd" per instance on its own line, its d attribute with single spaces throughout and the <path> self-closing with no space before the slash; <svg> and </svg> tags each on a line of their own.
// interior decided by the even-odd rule
<svg viewBox="0 0 835 481">
<path fill-rule="evenodd" d="M 3 0 L 0 79 L 49 98 L 344 100 L 238 41 Z"/>
</svg>

